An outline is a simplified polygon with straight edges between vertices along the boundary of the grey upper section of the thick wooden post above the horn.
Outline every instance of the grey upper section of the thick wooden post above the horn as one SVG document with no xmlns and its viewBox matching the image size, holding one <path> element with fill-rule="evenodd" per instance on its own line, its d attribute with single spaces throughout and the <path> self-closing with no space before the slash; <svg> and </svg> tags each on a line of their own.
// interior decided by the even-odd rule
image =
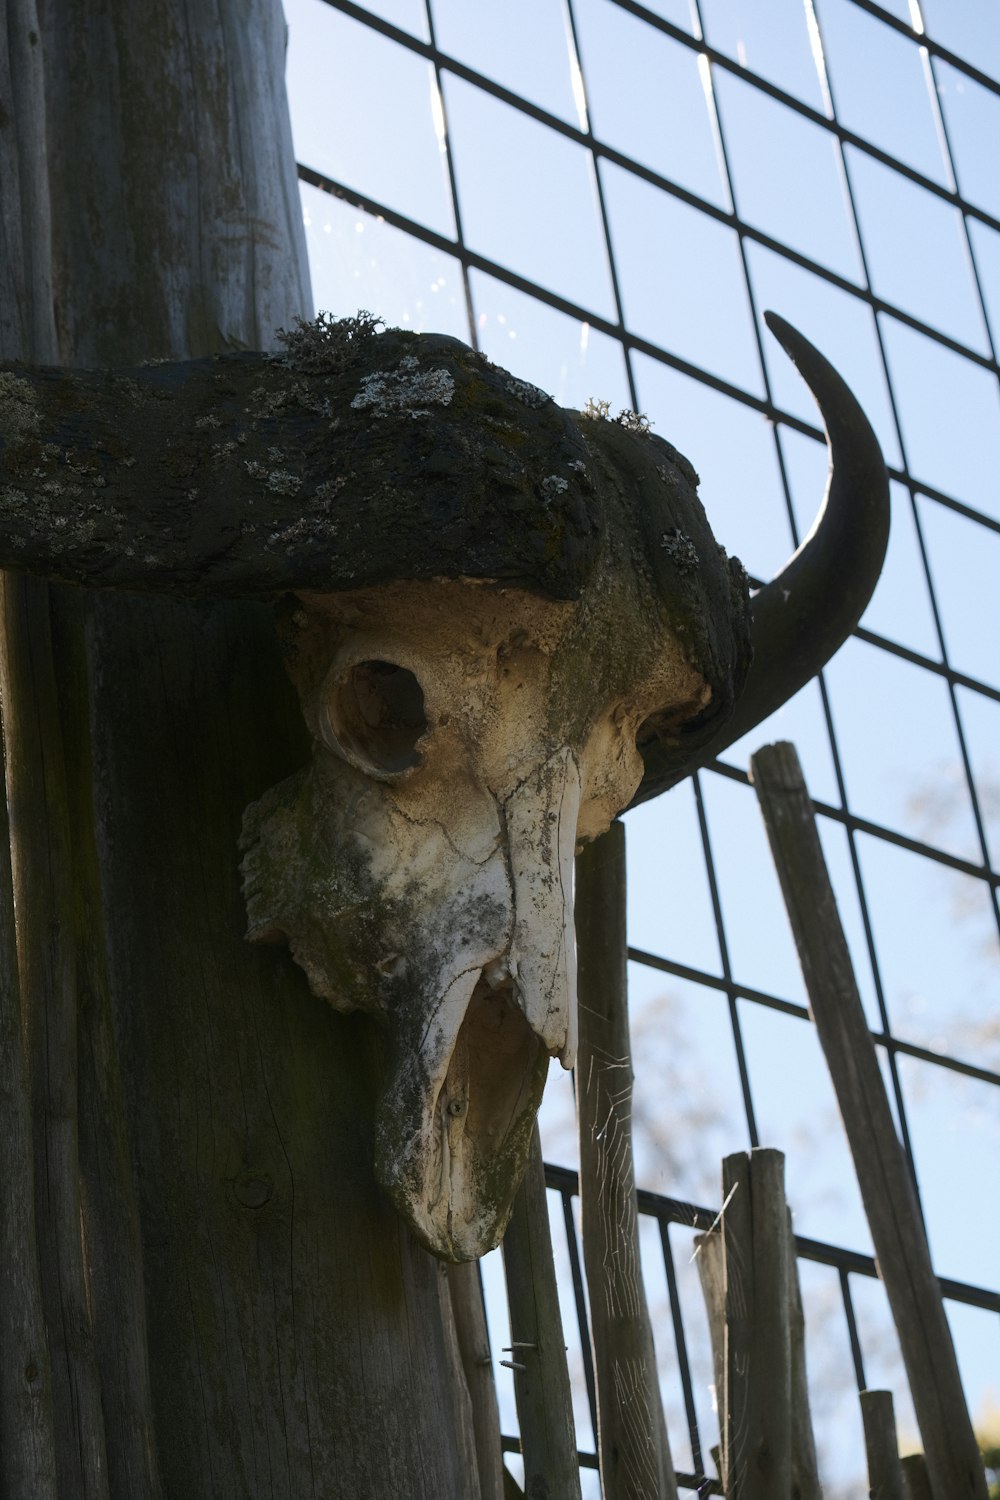
<svg viewBox="0 0 1000 1500">
<path fill-rule="evenodd" d="M 42 0 L 60 364 L 274 346 L 309 316 L 277 0 Z"/>
</svg>

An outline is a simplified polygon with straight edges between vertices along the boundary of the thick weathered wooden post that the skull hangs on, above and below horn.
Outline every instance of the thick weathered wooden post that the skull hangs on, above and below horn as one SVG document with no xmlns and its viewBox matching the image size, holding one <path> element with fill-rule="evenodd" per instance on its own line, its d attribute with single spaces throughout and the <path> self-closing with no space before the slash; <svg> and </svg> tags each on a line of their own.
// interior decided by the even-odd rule
<svg viewBox="0 0 1000 1500">
<path fill-rule="evenodd" d="M 0 38 L 4 358 L 268 348 L 309 315 L 277 0 L 9 0 Z M 472 1494 L 441 1269 L 372 1180 L 370 1022 L 243 938 L 243 808 L 306 753 L 268 606 L 4 600 L 0 1488 Z"/>
</svg>

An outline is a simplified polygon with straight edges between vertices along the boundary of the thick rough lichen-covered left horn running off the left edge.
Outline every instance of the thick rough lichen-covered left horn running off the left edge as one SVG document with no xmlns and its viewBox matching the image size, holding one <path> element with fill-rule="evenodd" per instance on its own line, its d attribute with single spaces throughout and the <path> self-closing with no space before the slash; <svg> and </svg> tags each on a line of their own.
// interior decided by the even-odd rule
<svg viewBox="0 0 1000 1500">
<path fill-rule="evenodd" d="M 180 596 L 475 576 L 579 597 L 598 525 L 571 412 L 444 334 L 321 315 L 285 338 L 0 368 L 0 567 Z"/>
</svg>

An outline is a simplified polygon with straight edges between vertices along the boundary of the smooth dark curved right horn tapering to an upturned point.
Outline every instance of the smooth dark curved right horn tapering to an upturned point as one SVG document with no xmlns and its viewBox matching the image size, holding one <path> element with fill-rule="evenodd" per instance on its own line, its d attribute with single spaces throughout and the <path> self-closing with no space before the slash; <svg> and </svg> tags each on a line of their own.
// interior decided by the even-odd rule
<svg viewBox="0 0 1000 1500">
<path fill-rule="evenodd" d="M 715 759 L 816 676 L 865 612 L 886 555 L 889 482 L 868 418 L 808 339 L 775 312 L 765 321 L 820 408 L 831 454 L 826 496 L 798 552 L 754 597 L 754 658 L 733 716 L 685 764 L 676 765 L 675 752 L 661 774 L 652 748 L 633 806 Z"/>
</svg>

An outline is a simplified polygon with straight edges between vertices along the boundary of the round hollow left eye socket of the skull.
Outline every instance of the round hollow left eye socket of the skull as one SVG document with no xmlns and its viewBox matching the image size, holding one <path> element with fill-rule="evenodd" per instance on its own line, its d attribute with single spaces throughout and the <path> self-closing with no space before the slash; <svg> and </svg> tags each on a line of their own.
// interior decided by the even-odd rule
<svg viewBox="0 0 1000 1500">
<path fill-rule="evenodd" d="M 396 662 L 355 662 L 330 688 L 321 716 L 331 750 L 373 776 L 420 765 L 417 741 L 427 728 L 424 694 Z"/>
</svg>

